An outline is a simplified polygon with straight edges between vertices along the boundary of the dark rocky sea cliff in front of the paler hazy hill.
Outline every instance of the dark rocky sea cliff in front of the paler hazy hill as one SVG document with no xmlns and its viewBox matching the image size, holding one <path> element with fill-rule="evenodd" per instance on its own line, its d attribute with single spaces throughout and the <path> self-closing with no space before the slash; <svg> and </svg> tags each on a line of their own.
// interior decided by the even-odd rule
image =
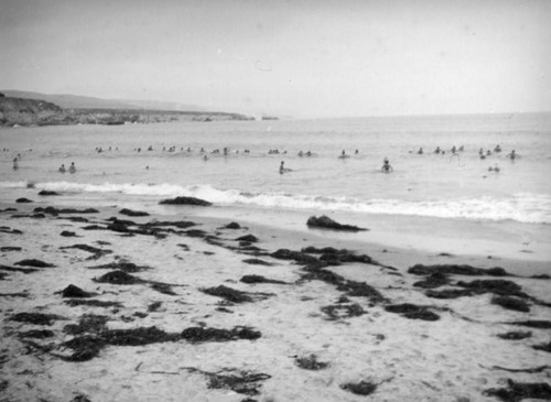
<svg viewBox="0 0 551 402">
<path fill-rule="evenodd" d="M 0 127 L 216 120 L 252 120 L 252 118 L 238 113 L 209 111 L 62 108 L 41 99 L 0 96 Z"/>
</svg>

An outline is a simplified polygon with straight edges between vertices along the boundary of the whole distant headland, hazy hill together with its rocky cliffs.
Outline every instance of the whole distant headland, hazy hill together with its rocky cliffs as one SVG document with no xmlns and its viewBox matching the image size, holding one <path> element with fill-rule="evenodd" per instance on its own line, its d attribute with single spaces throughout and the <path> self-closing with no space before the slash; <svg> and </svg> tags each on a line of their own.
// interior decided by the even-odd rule
<svg viewBox="0 0 551 402">
<path fill-rule="evenodd" d="M 172 107 L 182 106 L 0 90 L 0 127 L 255 120 L 245 115 L 207 111 L 192 106 L 190 109 L 195 110 L 171 110 Z"/>
</svg>

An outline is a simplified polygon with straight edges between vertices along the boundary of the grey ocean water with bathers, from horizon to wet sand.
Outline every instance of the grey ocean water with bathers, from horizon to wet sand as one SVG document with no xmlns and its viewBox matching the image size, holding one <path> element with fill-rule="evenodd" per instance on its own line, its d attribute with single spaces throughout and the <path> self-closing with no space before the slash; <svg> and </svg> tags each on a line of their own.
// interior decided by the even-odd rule
<svg viewBox="0 0 551 402">
<path fill-rule="evenodd" d="M 160 199 L 185 195 L 215 203 L 209 214 L 271 225 L 326 214 L 398 239 L 426 232 L 429 243 L 551 243 L 551 113 L 9 128 L 0 149 L 4 202 L 36 199 L 39 188 L 62 192 L 57 204 L 162 214 L 174 210 Z M 480 159 L 480 149 L 491 154 Z M 282 161 L 291 172 L 279 173 Z M 57 172 L 71 162 L 76 174 Z"/>
</svg>

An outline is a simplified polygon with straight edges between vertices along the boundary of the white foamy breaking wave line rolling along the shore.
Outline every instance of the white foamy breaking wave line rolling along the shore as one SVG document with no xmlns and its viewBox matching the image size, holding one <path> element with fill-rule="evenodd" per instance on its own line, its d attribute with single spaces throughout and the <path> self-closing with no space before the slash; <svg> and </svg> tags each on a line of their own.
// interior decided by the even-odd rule
<svg viewBox="0 0 551 402">
<path fill-rule="evenodd" d="M 3 188 L 22 188 L 26 182 L 0 182 Z M 285 193 L 247 193 L 218 189 L 210 185 L 180 186 L 175 184 L 88 184 L 69 182 L 35 183 L 35 188 L 64 193 L 120 193 L 133 196 L 191 196 L 215 204 L 251 205 L 266 208 L 338 210 L 369 214 L 413 215 L 440 218 L 483 220 L 516 220 L 527 224 L 551 224 L 551 196 L 530 193 L 509 197 L 400 200 L 346 196 L 312 196 Z"/>
</svg>

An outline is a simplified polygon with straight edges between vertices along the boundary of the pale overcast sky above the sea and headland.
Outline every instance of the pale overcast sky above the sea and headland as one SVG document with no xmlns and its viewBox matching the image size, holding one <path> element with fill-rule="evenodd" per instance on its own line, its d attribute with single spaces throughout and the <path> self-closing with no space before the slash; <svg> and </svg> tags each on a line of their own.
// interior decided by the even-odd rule
<svg viewBox="0 0 551 402">
<path fill-rule="evenodd" d="M 294 117 L 551 111 L 551 1 L 0 0 L 0 88 Z"/>
</svg>

